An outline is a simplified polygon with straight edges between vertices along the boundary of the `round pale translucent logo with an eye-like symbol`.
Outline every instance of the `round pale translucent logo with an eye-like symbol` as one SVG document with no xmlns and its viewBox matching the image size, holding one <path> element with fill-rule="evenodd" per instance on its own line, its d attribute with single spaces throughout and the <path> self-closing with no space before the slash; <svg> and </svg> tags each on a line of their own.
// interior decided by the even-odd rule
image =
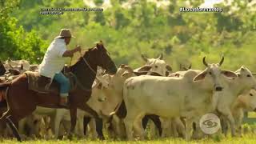
<svg viewBox="0 0 256 144">
<path fill-rule="evenodd" d="M 214 134 L 221 128 L 221 122 L 215 114 L 204 114 L 200 118 L 200 128 L 205 134 Z"/>
</svg>

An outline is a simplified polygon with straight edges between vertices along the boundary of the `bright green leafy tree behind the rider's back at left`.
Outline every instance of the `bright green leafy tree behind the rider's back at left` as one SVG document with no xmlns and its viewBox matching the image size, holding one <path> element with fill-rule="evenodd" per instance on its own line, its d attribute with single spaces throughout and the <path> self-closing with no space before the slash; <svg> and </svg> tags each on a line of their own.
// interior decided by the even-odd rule
<svg viewBox="0 0 256 144">
<path fill-rule="evenodd" d="M 10 17 L 9 13 L 15 6 L 18 6 L 18 1 L 1 1 L 0 58 L 24 58 L 38 62 L 38 57 L 43 56 L 42 50 L 46 49 L 46 42 L 34 30 L 26 32 L 18 26 L 16 18 Z"/>
</svg>

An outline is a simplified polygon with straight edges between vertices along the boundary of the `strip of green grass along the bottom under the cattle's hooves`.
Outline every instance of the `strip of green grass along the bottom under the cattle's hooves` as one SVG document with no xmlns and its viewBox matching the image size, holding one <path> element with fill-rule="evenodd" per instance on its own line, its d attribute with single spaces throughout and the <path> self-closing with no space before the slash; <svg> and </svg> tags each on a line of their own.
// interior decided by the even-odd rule
<svg viewBox="0 0 256 144">
<path fill-rule="evenodd" d="M 149 130 L 149 126 L 147 127 L 146 131 Z M 105 131 L 103 131 L 105 132 Z M 155 138 L 155 135 L 152 136 L 151 134 L 147 134 L 147 140 L 144 141 L 120 141 L 120 140 L 112 140 L 109 138 L 108 134 L 104 134 L 106 136 L 106 140 L 92 140 L 90 138 L 77 138 L 74 136 L 73 140 L 70 141 L 64 136 L 63 140 L 55 140 L 55 139 L 33 139 L 33 140 L 26 140 L 22 141 L 22 144 L 72 144 L 72 143 L 82 143 L 82 144 L 256 144 L 256 123 L 248 124 L 245 123 L 242 125 L 242 137 L 234 137 L 230 136 L 230 132 L 228 133 L 227 137 L 224 137 L 220 131 L 217 134 L 213 134 L 208 138 L 203 138 L 200 140 L 191 140 L 186 141 L 182 138 Z M 15 138 L 13 139 L 1 139 L 0 144 L 14 144 L 14 143 L 21 143 L 18 142 Z"/>
</svg>

